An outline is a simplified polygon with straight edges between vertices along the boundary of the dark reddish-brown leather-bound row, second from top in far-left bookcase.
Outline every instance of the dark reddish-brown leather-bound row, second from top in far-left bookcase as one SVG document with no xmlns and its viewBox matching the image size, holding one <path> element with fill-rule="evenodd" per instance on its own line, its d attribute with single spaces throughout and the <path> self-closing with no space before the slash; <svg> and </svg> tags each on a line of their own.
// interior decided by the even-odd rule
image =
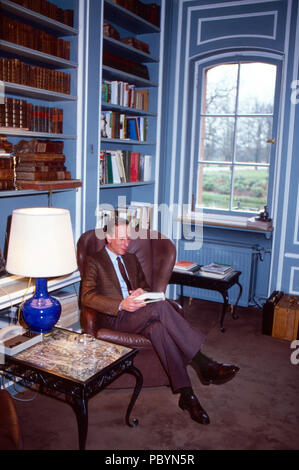
<svg viewBox="0 0 299 470">
<path fill-rule="evenodd" d="M 69 41 L 3 15 L 0 17 L 0 39 L 62 59 L 70 59 Z"/>
</svg>

